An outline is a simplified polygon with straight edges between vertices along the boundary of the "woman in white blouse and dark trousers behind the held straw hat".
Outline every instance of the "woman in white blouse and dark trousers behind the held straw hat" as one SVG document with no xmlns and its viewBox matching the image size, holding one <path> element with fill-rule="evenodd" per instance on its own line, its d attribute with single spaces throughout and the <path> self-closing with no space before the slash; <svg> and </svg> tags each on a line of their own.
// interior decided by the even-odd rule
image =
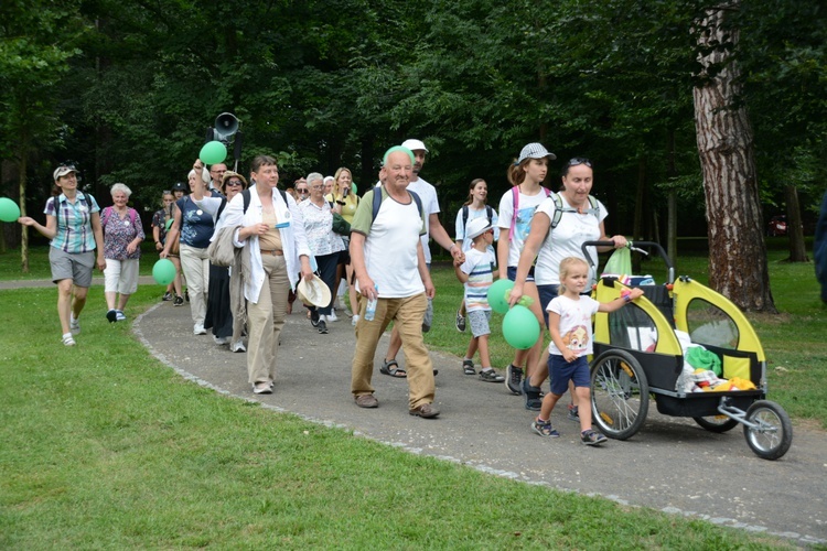
<svg viewBox="0 0 827 551">
<path fill-rule="evenodd" d="M 327 333 L 327 322 L 332 322 L 331 309 L 336 296 L 336 266 L 340 252 L 344 250 L 342 237 L 333 233 L 333 212 L 324 199 L 324 177 L 318 172 L 308 174 L 310 197 L 299 204 L 304 218 L 304 234 L 319 267 L 319 277 L 331 291 L 330 304 L 323 307 L 310 306 L 310 323 L 321 334 Z"/>
</svg>

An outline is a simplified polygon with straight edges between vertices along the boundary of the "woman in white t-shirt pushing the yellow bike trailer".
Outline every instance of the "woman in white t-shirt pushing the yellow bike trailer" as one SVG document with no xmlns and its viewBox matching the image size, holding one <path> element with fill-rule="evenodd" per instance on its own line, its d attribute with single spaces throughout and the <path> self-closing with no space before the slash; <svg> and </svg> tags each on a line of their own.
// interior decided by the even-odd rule
<svg viewBox="0 0 827 551">
<path fill-rule="evenodd" d="M 586 158 L 571 159 L 562 169 L 561 176 L 561 190 L 540 203 L 531 219 L 531 229 L 519 257 L 514 289 L 508 301 L 515 304 L 523 296 L 526 277 L 536 258 L 534 279 L 546 326 L 546 306 L 557 296 L 560 287 L 560 261 L 566 257 L 583 258 L 581 246 L 586 241 L 613 241 L 615 249 L 626 246 L 624 236 L 606 237 L 604 220 L 609 213 L 600 201 L 590 195 L 594 176 L 591 161 Z M 561 213 L 556 213 L 558 204 Z M 556 217 L 556 214 L 559 214 L 559 217 Z M 552 228 L 551 220 L 555 219 L 557 225 Z M 598 251 L 611 249 L 612 247 L 591 247 L 589 256 L 593 266 L 598 263 Z M 592 272 L 590 276 L 591 282 L 597 282 L 595 273 Z M 591 289 L 591 284 L 587 288 Z M 548 350 L 545 350 L 538 368 L 530 370 L 530 377 L 527 376 L 522 385 L 527 409 L 539 409 L 539 386 L 548 377 L 548 369 L 545 368 L 547 361 Z M 577 404 L 569 407 L 569 419 L 578 420 Z"/>
</svg>

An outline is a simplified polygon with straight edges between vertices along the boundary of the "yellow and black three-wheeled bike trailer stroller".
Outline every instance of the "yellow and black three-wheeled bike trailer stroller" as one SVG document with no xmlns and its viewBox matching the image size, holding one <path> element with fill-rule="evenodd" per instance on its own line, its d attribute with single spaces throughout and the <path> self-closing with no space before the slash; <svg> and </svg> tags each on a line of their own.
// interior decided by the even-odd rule
<svg viewBox="0 0 827 551">
<path fill-rule="evenodd" d="M 588 241 L 583 256 L 590 260 L 587 247 L 612 245 Z M 667 282 L 631 284 L 644 295 L 615 312 L 595 314 L 590 365 L 594 424 L 609 437 L 630 439 L 643 426 L 652 396 L 658 412 L 692 418 L 711 432 L 742 424 L 756 455 L 782 457 L 792 444 L 793 425 L 781 406 L 766 400 L 766 358 L 750 322 L 720 293 L 686 276 L 675 279 L 660 245 L 636 241 L 630 247 L 657 251 L 666 262 Z M 604 277 L 592 295 L 609 302 L 627 289 L 617 278 Z M 699 390 L 692 383 L 699 372 L 685 361 L 692 347 L 712 353 L 721 378 L 748 389 L 724 382 L 712 391 Z"/>
</svg>

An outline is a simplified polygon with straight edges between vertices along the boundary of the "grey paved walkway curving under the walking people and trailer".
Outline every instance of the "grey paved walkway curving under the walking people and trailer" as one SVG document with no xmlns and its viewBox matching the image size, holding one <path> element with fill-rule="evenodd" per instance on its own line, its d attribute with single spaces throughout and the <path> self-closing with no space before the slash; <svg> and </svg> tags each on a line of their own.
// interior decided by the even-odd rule
<svg viewBox="0 0 827 551">
<path fill-rule="evenodd" d="M 18 282 L 2 288 L 22 287 Z M 33 285 L 36 283 L 25 283 Z M 42 284 L 42 283 L 41 283 Z M 601 495 L 712 522 L 765 531 L 798 544 L 827 543 L 827 435 L 796 426 L 780 461 L 758 458 L 740 428 L 713 434 L 691 420 L 659 415 L 654 403 L 633 439 L 602 447 L 579 443 L 579 426 L 552 414 L 562 434 L 548 441 L 529 429 L 533 413 L 504 385 L 462 375 L 458 358 L 432 353 L 439 419 L 408 414 L 407 383 L 374 376 L 379 408 L 357 408 L 350 395 L 354 347 L 350 320 L 319 335 L 304 312 L 288 316 L 275 393 L 256 396 L 247 385 L 246 355 L 194 336 L 189 307 L 159 303 L 133 322 L 153 355 L 182 376 L 218 392 L 352 430 L 411 453 L 428 454 L 534 484 Z M 386 339 L 379 345 L 382 355 Z M 377 360 L 380 358 L 377 357 Z M 400 354 L 400 364 L 401 354 Z"/>
</svg>

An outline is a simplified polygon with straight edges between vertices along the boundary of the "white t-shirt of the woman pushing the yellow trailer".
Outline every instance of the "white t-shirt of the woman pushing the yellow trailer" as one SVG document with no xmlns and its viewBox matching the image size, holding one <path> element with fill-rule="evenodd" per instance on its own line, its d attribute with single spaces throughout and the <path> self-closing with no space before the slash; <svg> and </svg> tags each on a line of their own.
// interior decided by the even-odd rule
<svg viewBox="0 0 827 551">
<path fill-rule="evenodd" d="M 599 217 L 591 212 L 591 204 L 583 214 L 578 214 L 571 208 L 566 197 L 560 194 L 562 202 L 562 216 L 557 227 L 549 231 L 546 240 L 543 241 L 540 250 L 537 252 L 537 263 L 534 269 L 534 279 L 538 285 L 559 285 L 560 284 L 560 261 L 567 257 L 583 258 L 583 251 L 580 248 L 586 241 L 597 241 L 601 236 L 600 223 L 602 223 L 609 213 L 605 206 L 598 201 L 600 209 Z M 544 213 L 549 220 L 555 219 L 555 201 L 552 197 L 546 198 L 537 207 L 538 213 Z M 598 266 L 598 250 L 595 247 L 589 247 L 589 256 L 593 266 Z M 586 260 L 583 258 L 583 260 Z M 591 282 L 597 282 L 593 268 L 589 269 Z"/>
</svg>

